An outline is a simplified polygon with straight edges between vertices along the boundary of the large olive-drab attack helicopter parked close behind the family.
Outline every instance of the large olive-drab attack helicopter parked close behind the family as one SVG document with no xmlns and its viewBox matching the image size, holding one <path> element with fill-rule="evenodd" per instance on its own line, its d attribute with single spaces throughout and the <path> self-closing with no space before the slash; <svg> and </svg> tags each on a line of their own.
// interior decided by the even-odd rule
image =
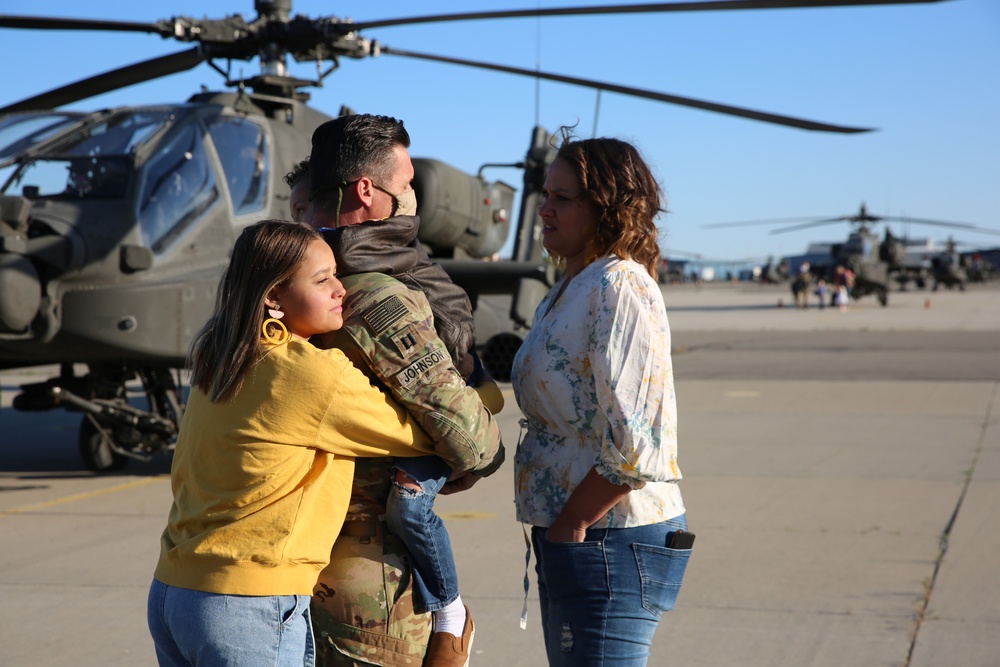
<svg viewBox="0 0 1000 667">
<path fill-rule="evenodd" d="M 0 106 L 0 370 L 57 365 L 25 385 L 18 410 L 70 409 L 84 418 L 79 447 L 95 471 L 169 453 L 183 412 L 181 372 L 192 337 L 210 315 L 218 278 L 239 231 L 287 217 L 282 177 L 310 150 L 331 116 L 309 106 L 342 58 L 379 55 L 443 62 L 559 81 L 803 130 L 844 127 L 547 73 L 393 49 L 363 33 L 409 24 L 513 17 L 600 15 L 775 6 L 903 4 L 938 0 L 783 0 L 465 12 L 353 21 L 292 14 L 291 0 L 256 0 L 257 17 L 174 17 L 150 23 L 0 15 L 0 30 L 135 32 L 193 46 Z M 288 57 L 316 63 L 293 76 Z M 232 63 L 259 60 L 257 75 Z M 221 63 L 226 63 L 223 67 Z M 322 67 L 329 63 L 325 71 Z M 208 65 L 227 91 L 177 104 L 69 110 L 88 98 Z M 349 112 L 349 110 L 344 110 Z M 476 308 L 484 362 L 509 377 L 534 307 L 553 281 L 538 242 L 537 206 L 555 155 L 552 135 L 532 130 L 515 189 L 431 158 L 414 160 L 420 239 Z M 488 163 L 497 164 L 497 163 Z M 513 234 L 510 260 L 489 262 Z M 492 295 L 509 309 L 487 307 Z M 78 367 L 86 372 L 77 374 Z M 140 407 L 129 386 L 138 381 Z"/>
</svg>

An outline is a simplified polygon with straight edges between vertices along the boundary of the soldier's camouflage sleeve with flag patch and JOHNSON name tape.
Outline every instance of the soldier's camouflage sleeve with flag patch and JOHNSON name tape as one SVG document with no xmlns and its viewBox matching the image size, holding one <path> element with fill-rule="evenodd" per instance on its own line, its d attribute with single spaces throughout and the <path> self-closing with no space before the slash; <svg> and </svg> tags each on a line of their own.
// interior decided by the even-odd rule
<svg viewBox="0 0 1000 667">
<path fill-rule="evenodd" d="M 504 460 L 500 429 L 479 394 L 455 370 L 434 329 L 427 297 L 381 273 L 341 279 L 344 326 L 314 338 L 338 347 L 387 388 L 456 472 L 490 475 Z"/>
</svg>

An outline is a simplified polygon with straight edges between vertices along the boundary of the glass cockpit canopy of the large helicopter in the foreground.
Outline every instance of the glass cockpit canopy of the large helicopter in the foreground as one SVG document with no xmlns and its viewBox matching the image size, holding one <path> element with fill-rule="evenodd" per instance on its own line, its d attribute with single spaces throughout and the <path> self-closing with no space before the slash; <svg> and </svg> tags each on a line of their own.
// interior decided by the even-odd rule
<svg viewBox="0 0 1000 667">
<path fill-rule="evenodd" d="M 223 191 L 236 216 L 264 211 L 270 177 L 264 126 L 217 108 L 177 111 L 7 116 L 0 120 L 0 194 L 61 201 L 134 196 L 143 245 L 156 252 Z"/>
</svg>

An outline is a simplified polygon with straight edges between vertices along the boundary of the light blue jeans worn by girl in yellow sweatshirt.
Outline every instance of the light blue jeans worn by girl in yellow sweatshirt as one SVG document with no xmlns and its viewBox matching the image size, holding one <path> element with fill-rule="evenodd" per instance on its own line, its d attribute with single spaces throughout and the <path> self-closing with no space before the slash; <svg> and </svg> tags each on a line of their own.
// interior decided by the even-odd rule
<svg viewBox="0 0 1000 667">
<path fill-rule="evenodd" d="M 313 667 L 310 595 L 220 595 L 156 579 L 146 610 L 161 667 Z"/>
</svg>

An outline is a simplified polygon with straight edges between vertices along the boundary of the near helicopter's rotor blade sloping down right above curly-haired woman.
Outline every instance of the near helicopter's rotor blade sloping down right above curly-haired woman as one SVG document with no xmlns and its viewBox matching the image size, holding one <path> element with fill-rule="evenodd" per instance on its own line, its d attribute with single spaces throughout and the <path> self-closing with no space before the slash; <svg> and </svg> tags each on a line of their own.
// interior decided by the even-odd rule
<svg viewBox="0 0 1000 667">
<path fill-rule="evenodd" d="M 692 99 L 690 97 L 681 97 L 679 95 L 668 95 L 667 93 L 657 93 L 651 90 L 642 90 L 641 88 L 620 86 L 618 84 L 606 83 L 603 81 L 581 79 L 573 76 L 564 76 L 562 74 L 552 74 L 549 72 L 541 72 L 538 70 L 522 69 L 520 67 L 509 67 L 507 65 L 496 65 L 493 63 L 479 62 L 476 60 L 466 60 L 464 58 L 451 58 L 448 56 L 436 56 L 428 53 L 418 53 L 416 51 L 395 49 L 385 46 L 384 44 L 381 47 L 381 52 L 383 54 L 404 56 L 406 58 L 431 60 L 434 62 L 450 63 L 452 65 L 463 65 L 466 67 L 478 67 L 480 69 L 488 69 L 495 72 L 507 72 L 508 74 L 518 74 L 521 76 L 530 76 L 538 79 L 546 79 L 549 81 L 559 81 L 561 83 L 568 83 L 576 86 L 584 86 L 586 88 L 595 88 L 597 90 L 606 90 L 608 92 L 620 93 L 622 95 L 631 95 L 633 97 L 641 97 L 649 100 L 656 100 L 658 102 L 667 102 L 668 104 L 677 104 L 680 106 L 702 109 L 704 111 L 714 111 L 716 113 L 722 113 L 729 116 L 739 116 L 741 118 L 759 120 L 765 123 L 773 123 L 775 125 L 796 127 L 802 130 L 812 130 L 816 132 L 838 132 L 842 134 L 855 134 L 858 132 L 871 132 L 874 129 L 874 128 L 843 127 L 840 125 L 830 125 L 828 123 L 820 123 L 817 121 L 805 120 L 802 118 L 793 118 L 791 116 L 780 116 L 778 114 L 768 113 L 765 111 L 754 111 L 753 109 L 744 109 L 741 107 L 734 107 L 726 104 L 706 102 L 703 100 Z"/>
</svg>

